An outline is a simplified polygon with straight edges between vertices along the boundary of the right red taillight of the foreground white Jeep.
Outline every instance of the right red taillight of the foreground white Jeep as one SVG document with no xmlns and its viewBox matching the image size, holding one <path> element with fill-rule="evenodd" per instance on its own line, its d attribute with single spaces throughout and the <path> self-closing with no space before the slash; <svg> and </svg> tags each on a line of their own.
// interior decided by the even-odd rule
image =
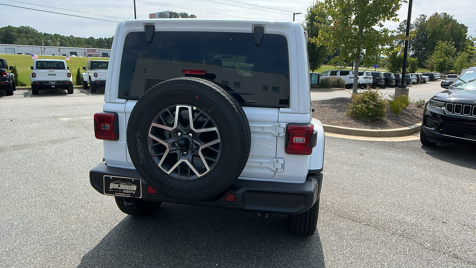
<svg viewBox="0 0 476 268">
<path fill-rule="evenodd" d="M 310 155 L 312 153 L 311 136 L 314 132 L 313 125 L 294 125 L 286 127 L 288 145 L 286 153 L 292 155 Z"/>
</svg>

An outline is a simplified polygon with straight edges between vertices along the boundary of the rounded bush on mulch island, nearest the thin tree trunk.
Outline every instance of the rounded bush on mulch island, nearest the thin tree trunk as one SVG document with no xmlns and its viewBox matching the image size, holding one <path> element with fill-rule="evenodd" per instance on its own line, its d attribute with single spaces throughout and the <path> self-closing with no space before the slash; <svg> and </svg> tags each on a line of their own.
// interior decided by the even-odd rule
<svg viewBox="0 0 476 268">
<path fill-rule="evenodd" d="M 386 117 L 387 103 L 378 90 L 367 90 L 352 94 L 352 103 L 349 103 L 347 115 L 359 120 L 375 121 Z"/>
</svg>

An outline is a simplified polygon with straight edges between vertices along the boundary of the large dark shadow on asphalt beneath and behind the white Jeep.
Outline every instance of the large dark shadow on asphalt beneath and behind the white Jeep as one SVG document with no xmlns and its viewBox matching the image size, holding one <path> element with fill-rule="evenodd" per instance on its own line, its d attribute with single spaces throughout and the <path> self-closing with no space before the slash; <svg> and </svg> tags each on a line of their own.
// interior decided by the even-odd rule
<svg viewBox="0 0 476 268">
<path fill-rule="evenodd" d="M 78 267 L 325 267 L 319 234 L 286 228 L 283 215 L 163 203 L 152 217 L 126 216 Z"/>
</svg>

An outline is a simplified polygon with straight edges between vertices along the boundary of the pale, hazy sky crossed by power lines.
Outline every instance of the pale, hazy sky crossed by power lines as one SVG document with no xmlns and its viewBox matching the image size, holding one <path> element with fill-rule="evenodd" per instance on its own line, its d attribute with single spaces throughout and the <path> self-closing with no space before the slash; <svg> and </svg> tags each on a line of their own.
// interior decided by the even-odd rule
<svg viewBox="0 0 476 268">
<path fill-rule="evenodd" d="M 133 0 L 0 0 L 0 27 L 30 26 L 40 32 L 78 37 L 110 37 L 117 21 L 134 19 Z M 309 0 L 136 0 L 138 19 L 148 19 L 149 13 L 171 10 L 195 14 L 199 19 L 237 19 L 260 21 L 304 21 Z M 28 10 L 11 6 L 20 6 Z M 47 10 L 100 20 L 41 12 Z M 420 14 L 428 17 L 434 12 L 447 12 L 468 27 L 468 34 L 476 36 L 476 0 L 415 0 L 412 21 Z M 81 11 L 83 13 L 77 12 Z M 407 19 L 408 3 L 398 11 L 400 21 Z M 395 30 L 399 22 L 385 22 Z"/>
</svg>

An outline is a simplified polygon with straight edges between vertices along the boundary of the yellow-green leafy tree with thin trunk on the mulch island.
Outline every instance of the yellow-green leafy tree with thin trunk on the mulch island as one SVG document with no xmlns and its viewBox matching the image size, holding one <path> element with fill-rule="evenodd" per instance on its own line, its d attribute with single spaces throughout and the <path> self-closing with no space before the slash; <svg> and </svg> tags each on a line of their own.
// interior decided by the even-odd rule
<svg viewBox="0 0 476 268">
<path fill-rule="evenodd" d="M 361 61 L 370 65 L 393 41 L 383 22 L 398 21 L 401 0 L 324 0 L 321 5 L 330 20 L 323 29 L 325 44 L 331 52 L 340 50 L 334 62 L 354 61 L 357 73 Z M 358 75 L 354 75 L 354 93 L 357 86 Z"/>
</svg>

